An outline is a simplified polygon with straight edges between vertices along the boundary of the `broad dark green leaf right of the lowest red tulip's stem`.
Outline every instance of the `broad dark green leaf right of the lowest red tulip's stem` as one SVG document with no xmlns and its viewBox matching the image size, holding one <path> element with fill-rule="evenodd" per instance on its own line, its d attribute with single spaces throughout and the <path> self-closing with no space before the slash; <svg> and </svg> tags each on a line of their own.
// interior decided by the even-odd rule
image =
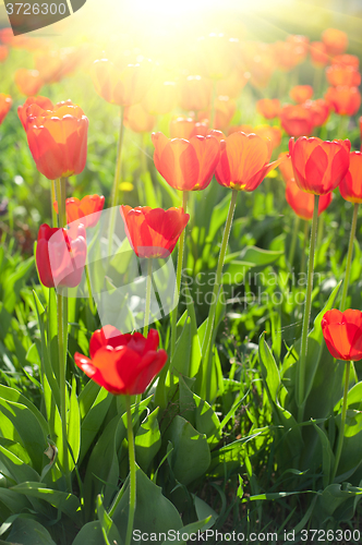
<svg viewBox="0 0 362 545">
<path fill-rule="evenodd" d="M 210 463 L 210 451 L 205 434 L 200 434 L 190 422 L 176 415 L 164 439 L 171 441 L 173 446 L 169 461 L 179 483 L 188 485 L 204 475 Z"/>
</svg>

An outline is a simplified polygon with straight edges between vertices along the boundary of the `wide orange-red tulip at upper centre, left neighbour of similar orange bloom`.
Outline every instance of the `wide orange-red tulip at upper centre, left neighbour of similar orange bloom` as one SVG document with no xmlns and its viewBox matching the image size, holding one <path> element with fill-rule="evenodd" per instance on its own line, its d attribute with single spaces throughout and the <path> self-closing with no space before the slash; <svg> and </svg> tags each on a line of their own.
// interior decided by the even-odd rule
<svg viewBox="0 0 362 545">
<path fill-rule="evenodd" d="M 207 187 L 220 158 L 220 144 L 215 135 L 196 135 L 186 141 L 153 133 L 152 140 L 155 167 L 171 187 L 181 191 Z"/>
</svg>

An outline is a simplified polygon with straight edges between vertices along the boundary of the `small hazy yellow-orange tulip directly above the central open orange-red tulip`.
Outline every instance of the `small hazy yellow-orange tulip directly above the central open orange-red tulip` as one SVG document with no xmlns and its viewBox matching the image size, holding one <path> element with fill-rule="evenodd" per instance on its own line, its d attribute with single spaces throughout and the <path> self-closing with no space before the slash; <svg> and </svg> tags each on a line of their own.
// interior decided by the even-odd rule
<svg viewBox="0 0 362 545">
<path fill-rule="evenodd" d="M 210 97 L 210 82 L 201 75 L 189 75 L 180 84 L 180 106 L 183 110 L 207 110 Z"/>
</svg>

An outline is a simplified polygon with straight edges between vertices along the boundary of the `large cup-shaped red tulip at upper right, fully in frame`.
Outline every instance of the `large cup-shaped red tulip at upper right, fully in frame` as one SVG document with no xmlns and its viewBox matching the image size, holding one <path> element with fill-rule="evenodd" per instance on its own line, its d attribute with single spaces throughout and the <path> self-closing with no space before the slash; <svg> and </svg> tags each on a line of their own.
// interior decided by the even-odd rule
<svg viewBox="0 0 362 545">
<path fill-rule="evenodd" d="M 348 140 L 290 138 L 289 153 L 299 189 L 315 195 L 335 190 L 348 172 L 350 147 Z"/>
</svg>

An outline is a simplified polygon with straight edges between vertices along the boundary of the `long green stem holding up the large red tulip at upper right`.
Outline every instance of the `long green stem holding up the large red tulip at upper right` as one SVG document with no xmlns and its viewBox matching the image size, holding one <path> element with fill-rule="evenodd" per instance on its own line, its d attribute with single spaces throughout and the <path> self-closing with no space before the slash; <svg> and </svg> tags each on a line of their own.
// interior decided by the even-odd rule
<svg viewBox="0 0 362 545">
<path fill-rule="evenodd" d="M 303 327 L 302 327 L 302 342 L 301 342 L 300 358 L 298 362 L 297 405 L 298 405 L 299 422 L 302 422 L 303 420 L 304 403 L 305 403 L 304 400 L 305 360 L 306 360 L 306 349 L 307 349 L 307 328 L 310 325 L 311 306 L 312 306 L 314 251 L 315 251 L 315 240 L 316 240 L 316 231 L 318 222 L 318 205 L 319 205 L 319 195 L 314 195 L 310 255 L 307 262 L 307 283 L 306 283 L 306 294 L 305 294 L 305 305 L 304 305 L 304 316 L 303 316 Z"/>
</svg>

